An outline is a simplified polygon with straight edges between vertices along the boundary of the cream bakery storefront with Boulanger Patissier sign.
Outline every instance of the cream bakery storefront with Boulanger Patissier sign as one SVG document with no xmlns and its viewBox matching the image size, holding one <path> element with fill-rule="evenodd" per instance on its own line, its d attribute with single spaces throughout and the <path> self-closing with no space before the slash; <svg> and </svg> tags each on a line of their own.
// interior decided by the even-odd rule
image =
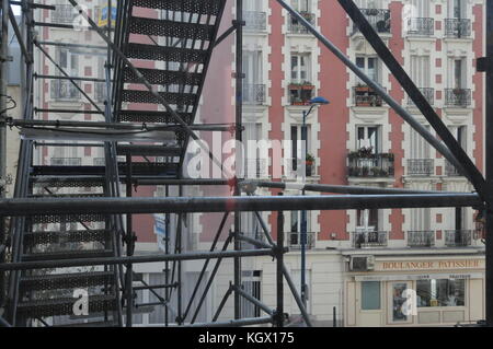
<svg viewBox="0 0 493 349">
<path fill-rule="evenodd" d="M 346 326 L 450 326 L 484 318 L 484 255 L 370 255 L 362 271 L 351 267 L 354 257 L 346 256 Z"/>
</svg>

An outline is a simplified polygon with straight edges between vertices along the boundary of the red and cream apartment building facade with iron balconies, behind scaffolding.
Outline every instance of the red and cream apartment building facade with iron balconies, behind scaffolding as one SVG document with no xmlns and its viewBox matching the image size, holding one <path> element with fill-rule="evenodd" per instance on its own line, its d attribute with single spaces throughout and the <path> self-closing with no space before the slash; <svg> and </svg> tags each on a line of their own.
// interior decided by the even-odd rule
<svg viewBox="0 0 493 349">
<path fill-rule="evenodd" d="M 90 13 L 99 16 L 105 1 L 88 1 Z M 336 1 L 291 0 L 302 15 L 348 56 L 359 69 L 385 88 L 425 127 L 426 119 L 404 94 L 371 46 Z M 484 56 L 483 0 L 359 0 L 369 22 L 392 54 L 421 89 L 445 125 L 471 156 L 484 168 L 484 80 L 475 71 L 477 58 Z M 57 11 L 43 10 L 44 21 L 67 24 L 73 12 L 60 0 Z M 223 16 L 229 27 L 233 1 Z M 160 15 L 156 13 L 156 15 Z M 460 173 L 405 124 L 370 88 L 346 69 L 306 28 L 275 1 L 244 0 L 243 36 L 243 123 L 245 140 L 284 140 L 288 164 L 280 177 L 274 175 L 276 156 L 271 150 L 246 151 L 246 177 L 300 181 L 299 165 L 303 110 L 310 98 L 324 96 L 329 105 L 314 109 L 307 118 L 307 152 L 312 164 L 307 182 L 333 185 L 397 187 L 422 190 L 471 191 Z M 70 36 L 68 35 L 70 33 Z M 41 27 L 45 42 L 91 43 L 102 40 L 91 31 Z M 149 38 L 142 38 L 148 40 Z M 49 46 L 61 68 L 72 75 L 104 79 L 106 53 Z M 234 120 L 233 37 L 218 46 L 203 93 L 198 118 L 204 124 Z M 47 57 L 37 53 L 39 72 L 59 74 Z M 138 67 L 147 67 L 146 61 Z M 37 117 L 71 120 L 103 120 L 90 113 L 54 114 L 44 109 L 93 109 L 67 80 L 38 79 Z M 103 106 L 103 84 L 81 82 L 82 90 Z M 431 129 L 431 128 L 429 128 Z M 213 144 L 215 136 L 204 133 Z M 222 135 L 222 142 L 230 136 Z M 211 146 L 210 146 L 211 147 Z M 94 148 L 93 148 L 94 149 Z M 83 147 L 39 147 L 35 162 L 58 165 L 98 165 L 104 152 Z M 277 195 L 278 190 L 257 189 L 256 195 Z M 229 188 L 185 188 L 185 195 L 230 195 Z M 286 189 L 285 195 L 300 195 Z M 164 188 L 139 187 L 136 196 L 163 196 Z M 171 188 L 170 195 L 177 195 Z M 307 195 L 316 195 L 308 193 Z M 308 311 L 319 326 L 331 326 L 335 317 L 344 326 L 454 325 L 484 317 L 484 244 L 477 212 L 467 209 L 382 209 L 308 212 L 307 295 Z M 275 237 L 276 217 L 263 212 Z M 286 265 L 300 289 L 301 212 L 285 212 L 284 230 L 290 252 Z M 160 218 L 163 219 L 163 218 Z M 164 218 L 165 219 L 165 218 Z M 168 217 L 171 228 L 176 218 Z M 137 253 L 153 253 L 161 239 L 152 216 L 136 216 Z M 186 248 L 207 249 L 221 214 L 190 214 Z M 223 235 L 231 226 L 231 219 Z M 169 232 L 173 230 L 170 229 Z M 257 236 L 261 228 L 252 213 L 242 216 L 242 231 Z M 173 237 L 168 235 L 170 240 Z M 221 240 L 223 241 L 223 239 Z M 172 243 L 171 243 L 172 244 Z M 197 280 L 199 263 L 185 263 L 185 283 Z M 137 267 L 149 283 L 163 283 L 162 264 Z M 275 264 L 268 258 L 243 263 L 245 290 L 275 306 Z M 211 266 L 207 271 L 210 275 Z M 207 321 L 219 305 L 232 266 L 223 264 L 199 312 Z M 204 283 L 204 281 L 202 282 Z M 200 289 L 204 284 L 200 284 Z M 286 312 L 299 314 L 286 289 Z M 414 315 L 405 315 L 405 290 L 414 290 L 420 304 Z M 185 296 L 192 289 L 186 287 Z M 138 292 L 142 303 L 156 301 L 148 291 Z M 454 300 L 452 300 L 454 299 Z M 175 302 L 175 301 L 173 301 Z M 173 303 L 176 304 L 176 303 Z M 196 305 L 196 301 L 194 303 Z M 186 304 L 185 304 L 186 305 Z M 184 306 L 185 306 L 184 305 Z M 260 310 L 244 304 L 243 315 L 257 316 Z M 220 318 L 230 318 L 229 300 Z M 173 317 L 170 315 L 170 317 Z M 162 325 L 164 313 L 136 315 L 135 324 Z"/>
</svg>

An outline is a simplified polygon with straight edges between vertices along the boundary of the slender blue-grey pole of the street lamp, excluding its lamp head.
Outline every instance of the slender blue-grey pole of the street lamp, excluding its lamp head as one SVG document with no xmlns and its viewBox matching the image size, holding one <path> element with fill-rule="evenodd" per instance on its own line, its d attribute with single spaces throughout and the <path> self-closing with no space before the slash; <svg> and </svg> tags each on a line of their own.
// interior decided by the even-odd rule
<svg viewBox="0 0 493 349">
<path fill-rule="evenodd" d="M 307 182 L 307 147 L 308 147 L 308 137 L 307 137 L 307 112 L 303 110 L 303 125 L 301 126 L 301 151 L 302 151 L 302 162 L 301 162 L 301 177 L 302 183 Z M 301 191 L 301 195 L 305 196 L 305 186 Z M 301 301 L 303 302 L 303 306 L 307 306 L 307 292 L 306 292 L 306 274 L 305 270 L 307 268 L 307 211 L 301 211 Z"/>
</svg>

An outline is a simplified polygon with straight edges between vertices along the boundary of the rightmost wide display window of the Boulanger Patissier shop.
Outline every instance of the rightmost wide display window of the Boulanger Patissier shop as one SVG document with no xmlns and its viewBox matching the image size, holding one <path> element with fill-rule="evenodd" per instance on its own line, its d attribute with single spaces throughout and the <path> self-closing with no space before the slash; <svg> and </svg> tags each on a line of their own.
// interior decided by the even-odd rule
<svg viewBox="0 0 493 349">
<path fill-rule="evenodd" d="M 466 280 L 417 280 L 416 294 L 417 307 L 465 306 Z"/>
</svg>

